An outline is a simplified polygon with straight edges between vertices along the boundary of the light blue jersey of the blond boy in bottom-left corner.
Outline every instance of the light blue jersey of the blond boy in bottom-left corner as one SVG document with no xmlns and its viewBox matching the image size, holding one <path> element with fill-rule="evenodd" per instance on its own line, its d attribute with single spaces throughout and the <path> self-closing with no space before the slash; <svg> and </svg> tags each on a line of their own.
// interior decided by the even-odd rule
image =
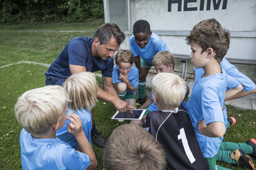
<svg viewBox="0 0 256 170">
<path fill-rule="evenodd" d="M 19 138 L 22 169 L 87 169 L 89 156 L 58 138 L 33 138 L 24 129 Z"/>
</svg>

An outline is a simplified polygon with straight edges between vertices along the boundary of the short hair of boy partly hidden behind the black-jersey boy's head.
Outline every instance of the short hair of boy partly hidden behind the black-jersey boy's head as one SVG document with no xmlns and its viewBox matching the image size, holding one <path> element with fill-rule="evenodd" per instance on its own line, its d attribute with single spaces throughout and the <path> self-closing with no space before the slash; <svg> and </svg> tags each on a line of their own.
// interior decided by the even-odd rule
<svg viewBox="0 0 256 170">
<path fill-rule="evenodd" d="M 173 64 L 173 69 L 175 66 L 174 56 L 170 51 L 159 51 L 156 53 L 156 55 L 153 57 L 152 60 L 153 66 L 169 66 L 170 64 Z"/>
</svg>

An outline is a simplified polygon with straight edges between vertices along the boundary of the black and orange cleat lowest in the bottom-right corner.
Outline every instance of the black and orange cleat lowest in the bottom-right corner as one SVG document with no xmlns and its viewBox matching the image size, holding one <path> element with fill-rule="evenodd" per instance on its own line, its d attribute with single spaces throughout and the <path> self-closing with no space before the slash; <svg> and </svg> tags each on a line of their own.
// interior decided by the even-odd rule
<svg viewBox="0 0 256 170">
<path fill-rule="evenodd" d="M 246 167 L 248 169 L 256 170 L 252 158 L 250 158 L 250 156 L 244 154 L 244 151 L 242 151 L 240 149 L 231 151 L 231 158 L 233 160 L 237 161 L 237 166 L 239 166 L 239 167 Z"/>
</svg>

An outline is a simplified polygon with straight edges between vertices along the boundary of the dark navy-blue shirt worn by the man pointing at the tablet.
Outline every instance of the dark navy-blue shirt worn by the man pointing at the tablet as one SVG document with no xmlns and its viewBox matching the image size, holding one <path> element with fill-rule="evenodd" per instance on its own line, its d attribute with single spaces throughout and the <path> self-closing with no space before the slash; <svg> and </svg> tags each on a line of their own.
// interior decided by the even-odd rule
<svg viewBox="0 0 256 170">
<path fill-rule="evenodd" d="M 92 56 L 93 40 L 93 38 L 80 36 L 68 42 L 63 51 L 58 55 L 58 58 L 46 71 L 46 78 L 57 77 L 67 79 L 67 77 L 72 75 L 70 64 L 85 66 L 86 70 L 90 72 L 102 71 L 105 77 L 111 77 L 114 66 L 113 58 L 102 60 Z"/>
</svg>

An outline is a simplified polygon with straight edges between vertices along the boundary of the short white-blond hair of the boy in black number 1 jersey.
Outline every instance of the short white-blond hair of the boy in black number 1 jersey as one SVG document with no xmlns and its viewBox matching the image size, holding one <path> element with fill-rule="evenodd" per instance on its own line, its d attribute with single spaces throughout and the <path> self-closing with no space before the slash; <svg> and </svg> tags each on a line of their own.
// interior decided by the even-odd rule
<svg viewBox="0 0 256 170">
<path fill-rule="evenodd" d="M 174 110 L 184 99 L 186 82 L 174 73 L 158 73 L 153 77 L 152 93 L 164 110 Z"/>
</svg>

